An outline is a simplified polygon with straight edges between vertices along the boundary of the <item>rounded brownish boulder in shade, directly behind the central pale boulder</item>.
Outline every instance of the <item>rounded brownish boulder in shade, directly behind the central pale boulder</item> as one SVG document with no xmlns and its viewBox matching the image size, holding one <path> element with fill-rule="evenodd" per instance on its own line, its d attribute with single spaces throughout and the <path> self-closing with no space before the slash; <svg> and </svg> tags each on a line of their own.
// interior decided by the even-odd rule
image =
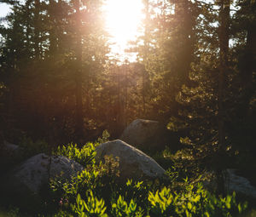
<svg viewBox="0 0 256 217">
<path fill-rule="evenodd" d="M 120 140 L 143 151 L 159 151 L 169 146 L 173 138 L 170 138 L 170 132 L 159 122 L 137 119 L 125 128 Z"/>
</svg>

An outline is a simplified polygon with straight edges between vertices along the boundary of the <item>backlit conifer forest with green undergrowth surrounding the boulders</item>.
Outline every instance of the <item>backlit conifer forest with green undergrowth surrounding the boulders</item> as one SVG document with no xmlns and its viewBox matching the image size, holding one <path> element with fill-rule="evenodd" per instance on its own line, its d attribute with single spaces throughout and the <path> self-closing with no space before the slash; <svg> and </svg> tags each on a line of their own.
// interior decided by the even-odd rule
<svg viewBox="0 0 256 217">
<path fill-rule="evenodd" d="M 10 9 L 0 18 L 1 177 L 42 152 L 90 171 L 73 177 L 66 185 L 73 188 L 53 181 L 55 196 L 37 211 L 16 203 L 9 211 L 0 195 L 0 216 L 2 209 L 3 216 L 238 216 L 247 202 L 256 215 L 256 197 L 238 194 L 235 202 L 223 181 L 236 168 L 256 186 L 256 1 L 142 0 L 139 34 L 115 52 L 108 1 L 0 1 Z M 114 159 L 113 169 L 97 164 L 94 151 L 136 119 L 157 121 L 168 134 L 164 148 L 142 150 L 169 180 L 128 180 L 125 189 Z M 16 162 L 6 159 L 6 141 L 24 150 Z M 206 171 L 218 183 L 211 196 L 192 185 Z"/>
</svg>

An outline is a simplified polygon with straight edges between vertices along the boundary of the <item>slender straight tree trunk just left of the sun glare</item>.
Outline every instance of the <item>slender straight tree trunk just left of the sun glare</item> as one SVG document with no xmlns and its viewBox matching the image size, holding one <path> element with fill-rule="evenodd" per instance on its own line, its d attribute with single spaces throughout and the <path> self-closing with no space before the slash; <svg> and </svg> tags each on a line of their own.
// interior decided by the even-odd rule
<svg viewBox="0 0 256 217">
<path fill-rule="evenodd" d="M 82 36 L 81 36 L 81 14 L 80 0 L 75 0 L 74 8 L 76 10 L 76 49 L 77 68 L 75 71 L 75 97 L 76 97 L 76 120 L 75 134 L 81 139 L 84 134 L 84 115 L 83 115 L 83 99 L 82 99 Z"/>
</svg>

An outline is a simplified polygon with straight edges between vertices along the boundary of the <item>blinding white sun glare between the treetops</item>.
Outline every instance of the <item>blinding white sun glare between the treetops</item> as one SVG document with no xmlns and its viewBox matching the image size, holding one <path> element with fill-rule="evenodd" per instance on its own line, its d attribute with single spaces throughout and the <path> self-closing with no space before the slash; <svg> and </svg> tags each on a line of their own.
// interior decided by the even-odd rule
<svg viewBox="0 0 256 217">
<path fill-rule="evenodd" d="M 106 27 L 113 45 L 114 53 L 123 53 L 129 41 L 139 35 L 138 28 L 143 20 L 141 0 L 108 0 L 105 5 Z"/>
</svg>

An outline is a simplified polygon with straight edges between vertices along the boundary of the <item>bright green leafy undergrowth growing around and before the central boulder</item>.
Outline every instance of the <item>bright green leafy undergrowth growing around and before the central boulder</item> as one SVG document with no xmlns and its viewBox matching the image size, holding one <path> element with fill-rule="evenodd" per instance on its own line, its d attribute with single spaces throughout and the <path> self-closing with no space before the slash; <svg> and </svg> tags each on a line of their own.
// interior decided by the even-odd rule
<svg viewBox="0 0 256 217">
<path fill-rule="evenodd" d="M 70 144 L 58 153 L 86 165 L 72 180 L 52 180 L 56 206 L 67 216 L 234 216 L 247 208 L 247 203 L 237 203 L 236 193 L 216 197 L 201 184 L 189 185 L 176 191 L 172 185 L 163 186 L 161 180 L 119 180 L 118 159 L 107 157 L 96 164 L 95 145 L 82 149 Z M 174 172 L 173 172 L 174 171 Z M 175 169 L 169 170 L 170 182 L 176 181 Z M 174 174 L 173 174 L 174 173 Z M 166 180 L 165 180 L 166 183 Z M 56 216 L 61 216 L 61 215 Z"/>
</svg>

